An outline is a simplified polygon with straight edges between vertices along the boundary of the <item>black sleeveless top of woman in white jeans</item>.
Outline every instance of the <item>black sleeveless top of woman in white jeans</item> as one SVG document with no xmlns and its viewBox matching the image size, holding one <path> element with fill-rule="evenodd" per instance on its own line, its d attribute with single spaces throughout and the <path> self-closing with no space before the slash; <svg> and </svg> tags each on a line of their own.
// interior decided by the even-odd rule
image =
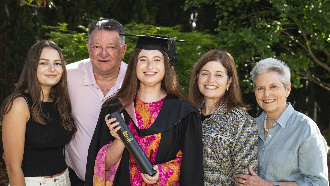
<svg viewBox="0 0 330 186">
<path fill-rule="evenodd" d="M 64 147 L 70 142 L 72 133 L 60 123 L 60 116 L 53 102 L 42 102 L 42 112 L 50 121 L 43 125 L 32 119 L 32 99 L 26 94 L 30 119 L 26 122 L 22 170 L 24 177 L 51 176 L 63 172 L 67 166 Z M 15 147 L 13 147 L 15 148 Z"/>
</svg>

